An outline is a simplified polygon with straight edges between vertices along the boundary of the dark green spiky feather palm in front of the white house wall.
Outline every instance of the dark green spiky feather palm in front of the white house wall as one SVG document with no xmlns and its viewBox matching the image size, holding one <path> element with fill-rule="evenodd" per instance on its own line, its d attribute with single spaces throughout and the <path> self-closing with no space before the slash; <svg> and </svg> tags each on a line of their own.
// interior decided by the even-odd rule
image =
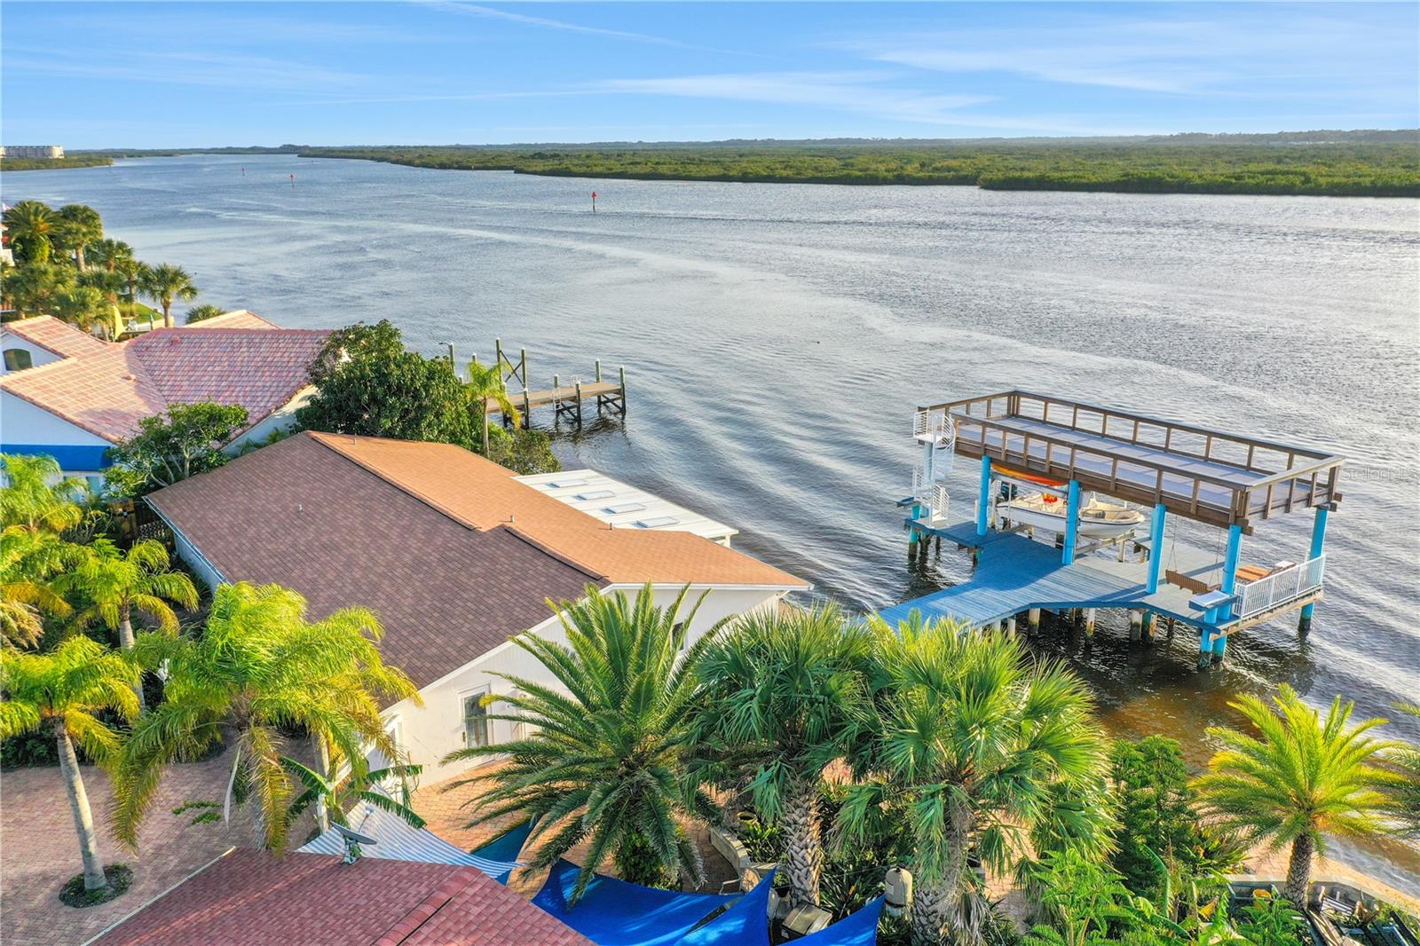
<svg viewBox="0 0 1420 946">
<path fill-rule="evenodd" d="M 694 844 L 677 815 L 709 814 L 710 800 L 687 774 L 696 673 L 710 635 L 689 651 L 682 614 L 686 591 L 657 608 L 648 585 L 635 602 L 589 585 L 578 602 L 558 608 L 567 643 L 523 634 L 514 643 L 561 685 L 496 675 L 517 687 L 488 702 L 514 712 L 490 713 L 530 727 L 501 744 L 469 746 L 444 764 L 507 754 L 506 766 L 449 783 L 486 788 L 471 803 L 471 825 L 510 812 L 532 817 L 530 871 L 547 868 L 586 841 L 586 857 L 571 899 L 581 898 L 594 871 L 611 857 L 622 879 L 665 885 L 679 875 L 700 878 Z M 699 607 L 699 605 L 696 605 Z"/>
</svg>

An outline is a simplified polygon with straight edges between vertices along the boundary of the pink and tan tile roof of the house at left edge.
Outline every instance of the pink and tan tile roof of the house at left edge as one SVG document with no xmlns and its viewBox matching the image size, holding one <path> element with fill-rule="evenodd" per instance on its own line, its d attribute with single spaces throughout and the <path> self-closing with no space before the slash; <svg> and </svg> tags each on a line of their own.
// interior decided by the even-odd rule
<svg viewBox="0 0 1420 946">
<path fill-rule="evenodd" d="M 268 328 L 244 311 L 212 321 L 219 324 L 159 328 L 126 342 L 99 341 L 50 317 L 7 322 L 6 331 L 62 358 L 3 375 L 0 389 L 105 440 L 131 436 L 168 405 L 195 401 L 240 403 L 256 425 L 307 386 L 307 368 L 329 335 Z"/>
</svg>

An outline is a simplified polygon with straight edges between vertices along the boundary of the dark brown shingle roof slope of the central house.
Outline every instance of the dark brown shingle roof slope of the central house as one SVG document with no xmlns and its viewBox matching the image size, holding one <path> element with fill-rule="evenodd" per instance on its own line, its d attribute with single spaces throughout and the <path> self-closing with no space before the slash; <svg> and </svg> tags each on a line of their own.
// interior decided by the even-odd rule
<svg viewBox="0 0 1420 946">
<path fill-rule="evenodd" d="M 594 575 L 507 530 L 470 530 L 300 433 L 148 497 L 229 581 L 372 608 L 381 651 L 427 686 L 579 598 Z M 605 584 L 605 582 L 602 582 Z"/>
</svg>

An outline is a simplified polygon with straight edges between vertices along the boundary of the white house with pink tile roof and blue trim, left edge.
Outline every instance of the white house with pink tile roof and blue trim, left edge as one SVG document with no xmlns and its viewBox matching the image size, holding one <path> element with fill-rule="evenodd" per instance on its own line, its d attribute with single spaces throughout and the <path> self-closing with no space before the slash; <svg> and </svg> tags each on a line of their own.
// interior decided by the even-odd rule
<svg viewBox="0 0 1420 946">
<path fill-rule="evenodd" d="M 290 426 L 328 331 L 278 328 L 239 310 L 109 342 L 50 315 L 0 325 L 0 452 L 47 453 L 97 486 L 114 443 L 169 405 L 247 409 L 229 449 Z"/>
</svg>

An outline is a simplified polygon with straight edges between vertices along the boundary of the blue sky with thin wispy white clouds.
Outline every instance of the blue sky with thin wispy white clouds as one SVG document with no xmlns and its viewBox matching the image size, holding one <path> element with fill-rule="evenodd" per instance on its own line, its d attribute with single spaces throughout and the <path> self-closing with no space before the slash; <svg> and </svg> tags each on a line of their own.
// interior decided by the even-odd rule
<svg viewBox="0 0 1420 946">
<path fill-rule="evenodd" d="M 1420 125 L 1417 3 L 0 3 L 67 148 Z"/>
</svg>

